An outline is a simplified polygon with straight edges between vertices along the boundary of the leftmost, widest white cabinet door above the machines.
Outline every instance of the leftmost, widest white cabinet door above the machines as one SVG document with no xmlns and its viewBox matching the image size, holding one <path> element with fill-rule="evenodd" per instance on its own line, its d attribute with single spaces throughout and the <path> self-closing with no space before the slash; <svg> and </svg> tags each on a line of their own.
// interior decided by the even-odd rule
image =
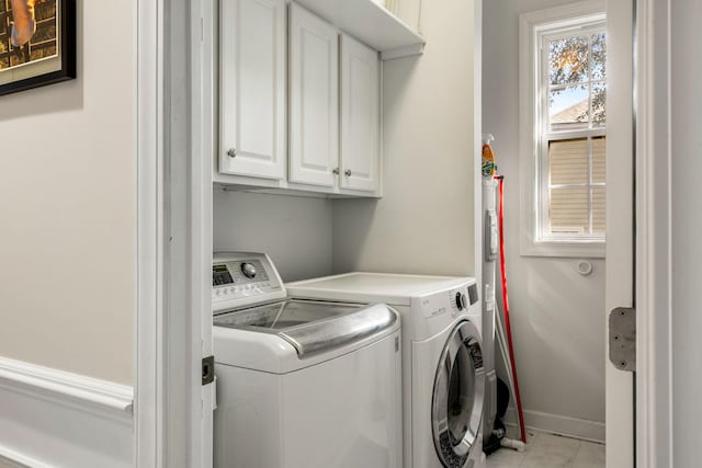
<svg viewBox="0 0 702 468">
<path fill-rule="evenodd" d="M 285 0 L 222 0 L 219 172 L 285 179 Z"/>
</svg>

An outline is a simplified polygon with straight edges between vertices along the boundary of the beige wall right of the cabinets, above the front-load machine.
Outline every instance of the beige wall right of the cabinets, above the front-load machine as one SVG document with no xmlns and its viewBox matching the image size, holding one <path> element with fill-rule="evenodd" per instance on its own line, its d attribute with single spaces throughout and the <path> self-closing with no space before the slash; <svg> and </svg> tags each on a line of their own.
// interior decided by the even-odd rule
<svg viewBox="0 0 702 468">
<path fill-rule="evenodd" d="M 333 202 L 335 272 L 475 273 L 473 8 L 423 2 L 424 54 L 384 62 L 384 196 Z"/>
</svg>

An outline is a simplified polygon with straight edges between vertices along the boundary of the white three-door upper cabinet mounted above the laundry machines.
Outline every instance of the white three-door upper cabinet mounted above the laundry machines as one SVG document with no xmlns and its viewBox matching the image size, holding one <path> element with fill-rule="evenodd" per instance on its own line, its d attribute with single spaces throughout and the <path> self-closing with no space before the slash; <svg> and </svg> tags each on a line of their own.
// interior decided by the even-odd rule
<svg viewBox="0 0 702 468">
<path fill-rule="evenodd" d="M 381 196 L 377 49 L 294 1 L 219 4 L 214 182 Z"/>
</svg>

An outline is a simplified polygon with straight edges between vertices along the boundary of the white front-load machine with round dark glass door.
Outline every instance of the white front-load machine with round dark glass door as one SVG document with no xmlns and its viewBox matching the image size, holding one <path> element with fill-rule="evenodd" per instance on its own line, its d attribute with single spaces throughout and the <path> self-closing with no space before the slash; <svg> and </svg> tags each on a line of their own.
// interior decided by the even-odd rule
<svg viewBox="0 0 702 468">
<path fill-rule="evenodd" d="M 348 273 L 286 286 L 296 297 L 396 309 L 403 322 L 404 466 L 485 466 L 482 312 L 474 278 Z"/>
</svg>

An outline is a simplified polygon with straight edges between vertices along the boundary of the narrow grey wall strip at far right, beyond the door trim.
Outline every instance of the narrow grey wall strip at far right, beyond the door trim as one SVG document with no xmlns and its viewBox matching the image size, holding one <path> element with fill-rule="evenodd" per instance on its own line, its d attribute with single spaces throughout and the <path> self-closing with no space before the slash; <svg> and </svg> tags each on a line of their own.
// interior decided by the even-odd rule
<svg viewBox="0 0 702 468">
<path fill-rule="evenodd" d="M 702 420 L 702 75 L 698 56 L 702 4 L 669 3 L 671 32 L 671 207 L 672 207 L 672 453 L 676 467 L 700 465 L 697 429 Z M 665 287 L 665 285 L 660 285 Z M 653 313 L 658 313 L 652 310 Z M 660 311 L 663 312 L 663 310 Z M 655 331 L 654 331 L 655 339 Z"/>
</svg>

